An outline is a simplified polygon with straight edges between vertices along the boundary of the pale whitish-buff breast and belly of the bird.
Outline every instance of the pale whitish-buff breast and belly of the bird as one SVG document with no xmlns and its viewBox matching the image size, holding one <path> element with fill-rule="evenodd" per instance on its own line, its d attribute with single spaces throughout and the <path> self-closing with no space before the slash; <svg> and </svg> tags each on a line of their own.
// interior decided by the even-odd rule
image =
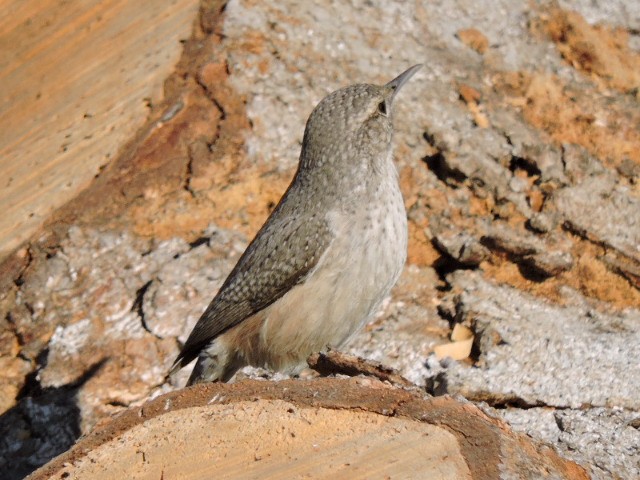
<svg viewBox="0 0 640 480">
<path fill-rule="evenodd" d="M 376 313 L 406 260 L 407 222 L 400 193 L 384 211 L 369 214 L 357 221 L 331 219 L 338 234 L 326 255 L 303 283 L 265 312 L 258 363 L 295 367 L 313 352 L 340 347 Z"/>
</svg>

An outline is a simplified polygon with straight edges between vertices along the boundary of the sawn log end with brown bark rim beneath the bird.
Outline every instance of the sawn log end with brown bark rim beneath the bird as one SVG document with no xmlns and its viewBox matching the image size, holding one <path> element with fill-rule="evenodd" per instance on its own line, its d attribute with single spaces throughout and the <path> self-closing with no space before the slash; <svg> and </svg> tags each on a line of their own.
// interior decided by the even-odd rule
<svg viewBox="0 0 640 480">
<path fill-rule="evenodd" d="M 36 471 L 53 478 L 588 478 L 450 397 L 372 378 L 199 384 L 132 408 Z"/>
</svg>

